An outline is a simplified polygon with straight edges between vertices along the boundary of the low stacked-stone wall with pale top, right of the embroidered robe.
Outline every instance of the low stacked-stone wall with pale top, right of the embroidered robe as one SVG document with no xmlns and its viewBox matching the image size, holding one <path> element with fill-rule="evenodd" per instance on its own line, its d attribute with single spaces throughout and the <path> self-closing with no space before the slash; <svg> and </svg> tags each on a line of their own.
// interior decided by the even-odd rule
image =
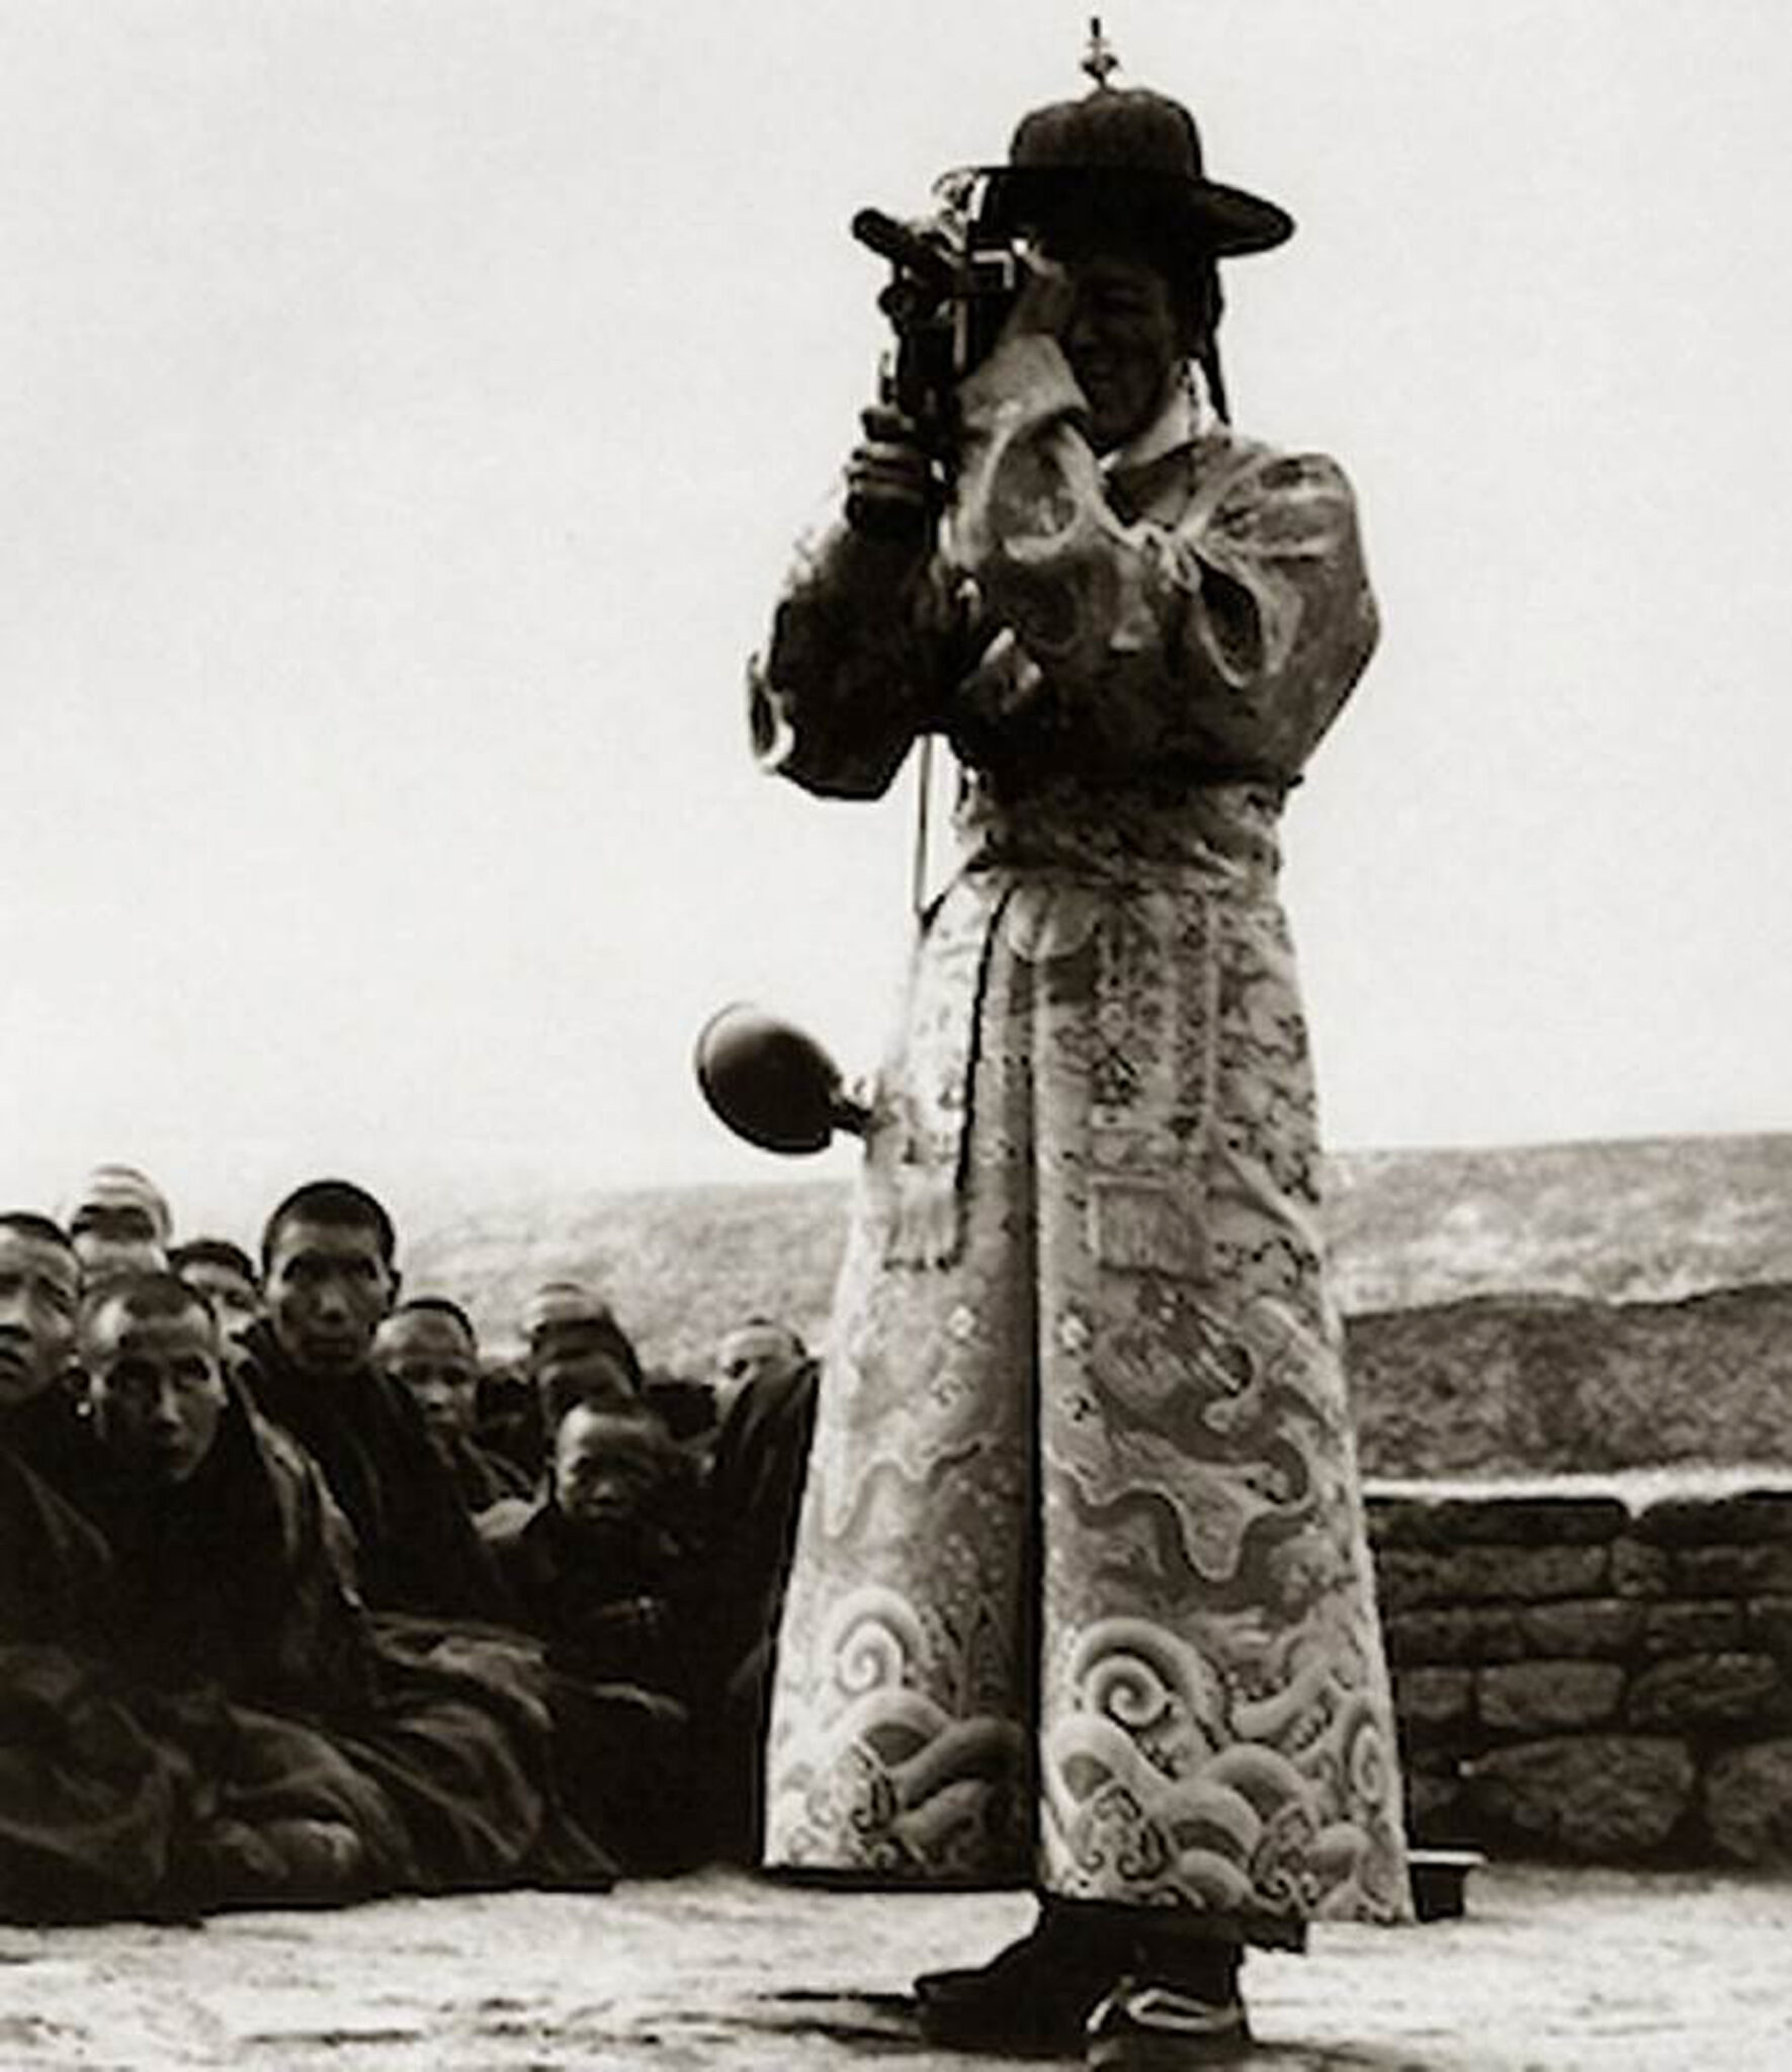
<svg viewBox="0 0 1792 2072">
<path fill-rule="evenodd" d="M 1792 1475 L 1369 1484 L 1417 1844 L 1792 1863 Z"/>
</svg>

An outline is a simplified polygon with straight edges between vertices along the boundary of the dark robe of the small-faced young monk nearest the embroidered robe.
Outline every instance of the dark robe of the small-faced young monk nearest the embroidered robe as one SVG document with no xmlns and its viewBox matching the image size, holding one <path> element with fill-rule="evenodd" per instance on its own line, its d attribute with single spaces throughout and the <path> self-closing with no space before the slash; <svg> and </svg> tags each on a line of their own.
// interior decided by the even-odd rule
<svg viewBox="0 0 1792 2072">
<path fill-rule="evenodd" d="M 702 1850 L 692 1769 L 696 1581 L 659 1523 L 572 1527 L 551 1498 L 499 1506 L 487 1539 L 549 1668 L 557 1772 L 578 1819 L 630 1871 Z"/>
</svg>

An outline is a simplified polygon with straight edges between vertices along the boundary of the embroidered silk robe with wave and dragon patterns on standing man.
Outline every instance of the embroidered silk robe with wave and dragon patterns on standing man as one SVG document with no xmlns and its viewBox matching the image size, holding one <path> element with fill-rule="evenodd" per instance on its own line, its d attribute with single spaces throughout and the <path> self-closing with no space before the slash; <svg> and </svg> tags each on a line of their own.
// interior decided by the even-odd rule
<svg viewBox="0 0 1792 2072">
<path fill-rule="evenodd" d="M 1376 642 L 1353 497 L 1187 400 L 1104 472 L 965 383 L 941 547 L 800 557 L 760 758 L 965 771 L 883 1067 L 777 1662 L 769 1863 L 1260 1941 L 1407 1915 L 1284 794 Z"/>
</svg>

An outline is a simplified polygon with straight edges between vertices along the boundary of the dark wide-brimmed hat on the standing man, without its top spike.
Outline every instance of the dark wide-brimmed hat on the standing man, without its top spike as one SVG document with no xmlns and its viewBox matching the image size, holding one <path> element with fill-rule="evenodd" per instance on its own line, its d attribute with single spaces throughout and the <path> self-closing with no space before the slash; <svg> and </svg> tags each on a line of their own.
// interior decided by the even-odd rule
<svg viewBox="0 0 1792 2072">
<path fill-rule="evenodd" d="M 1094 209 L 1233 259 L 1293 236 L 1287 209 L 1243 186 L 1210 180 L 1195 118 L 1150 87 L 1100 83 L 1081 99 L 1021 116 L 1007 166 L 986 168 L 984 222 L 999 232 L 1050 230 Z"/>
</svg>

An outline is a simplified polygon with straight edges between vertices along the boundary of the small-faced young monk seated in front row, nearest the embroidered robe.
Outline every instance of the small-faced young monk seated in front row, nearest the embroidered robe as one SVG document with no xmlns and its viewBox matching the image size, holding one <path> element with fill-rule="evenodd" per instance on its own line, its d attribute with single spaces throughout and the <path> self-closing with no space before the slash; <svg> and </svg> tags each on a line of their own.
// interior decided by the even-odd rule
<svg viewBox="0 0 1792 2072">
<path fill-rule="evenodd" d="M 690 1859 L 692 1566 L 675 1531 L 682 1457 L 646 1409 L 574 1403 L 549 1494 L 487 1513 L 512 1604 L 547 1643 L 561 1776 L 624 1865 Z"/>
</svg>

